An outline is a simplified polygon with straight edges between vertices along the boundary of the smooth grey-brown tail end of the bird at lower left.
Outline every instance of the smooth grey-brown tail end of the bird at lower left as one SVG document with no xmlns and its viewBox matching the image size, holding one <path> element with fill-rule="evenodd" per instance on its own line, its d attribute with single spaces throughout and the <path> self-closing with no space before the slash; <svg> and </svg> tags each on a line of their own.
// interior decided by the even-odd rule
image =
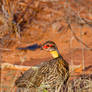
<svg viewBox="0 0 92 92">
<path fill-rule="evenodd" d="M 20 76 L 15 81 L 15 85 L 17 87 L 26 87 L 26 88 L 33 86 L 35 76 L 38 73 L 38 69 L 39 69 L 39 67 L 36 69 L 30 68 L 29 70 L 25 71 L 24 74 L 22 74 L 22 76 Z"/>
</svg>

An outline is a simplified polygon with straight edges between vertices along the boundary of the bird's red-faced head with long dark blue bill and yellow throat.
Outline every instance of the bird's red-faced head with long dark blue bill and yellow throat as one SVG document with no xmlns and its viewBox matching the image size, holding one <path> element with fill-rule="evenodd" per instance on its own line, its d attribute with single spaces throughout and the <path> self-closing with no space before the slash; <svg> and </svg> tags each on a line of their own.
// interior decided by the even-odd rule
<svg viewBox="0 0 92 92">
<path fill-rule="evenodd" d="M 17 49 L 19 49 L 19 50 L 36 50 L 38 48 L 41 48 L 42 50 L 49 51 L 54 58 L 57 58 L 60 56 L 60 53 L 56 47 L 56 44 L 53 41 L 46 41 L 45 43 L 40 44 L 40 45 L 33 44 L 33 45 L 30 45 L 27 47 L 19 47 Z"/>
</svg>

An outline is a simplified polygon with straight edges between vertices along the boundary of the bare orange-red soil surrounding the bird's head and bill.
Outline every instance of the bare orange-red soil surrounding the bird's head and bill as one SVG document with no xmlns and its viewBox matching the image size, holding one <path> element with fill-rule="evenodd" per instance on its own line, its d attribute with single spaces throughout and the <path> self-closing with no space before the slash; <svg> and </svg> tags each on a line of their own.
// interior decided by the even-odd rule
<svg viewBox="0 0 92 92">
<path fill-rule="evenodd" d="M 29 1 L 31 0 L 27 0 L 26 4 L 25 2 L 23 4 L 28 5 Z M 21 51 L 16 48 L 26 47 L 34 43 L 42 44 L 47 40 L 52 40 L 57 44 L 61 55 L 70 65 L 72 62 L 73 65 L 82 65 L 84 62 L 85 67 L 88 67 L 87 71 L 92 70 L 92 0 L 69 0 L 70 6 L 60 0 L 57 0 L 56 3 L 40 2 L 40 4 L 38 1 L 32 5 L 32 11 L 37 12 L 33 13 L 29 8 L 27 12 L 30 12 L 29 15 L 25 13 L 24 24 L 20 25 L 20 37 L 16 35 L 15 31 L 9 30 L 6 19 L 0 11 L 0 63 L 34 66 L 46 62 L 52 59 L 50 53 L 46 51 L 40 49 Z M 23 9 L 21 11 L 19 7 L 16 9 L 23 14 Z M 35 13 L 37 14 L 32 16 Z M 16 16 L 16 22 L 18 22 L 22 15 Z M 77 41 L 71 30 L 67 29 L 68 21 L 71 22 L 72 30 L 77 38 L 84 42 L 88 48 Z M 11 80 L 11 77 L 6 77 L 8 72 L 10 71 L 2 71 L 2 83 L 6 81 L 7 85 Z"/>
</svg>

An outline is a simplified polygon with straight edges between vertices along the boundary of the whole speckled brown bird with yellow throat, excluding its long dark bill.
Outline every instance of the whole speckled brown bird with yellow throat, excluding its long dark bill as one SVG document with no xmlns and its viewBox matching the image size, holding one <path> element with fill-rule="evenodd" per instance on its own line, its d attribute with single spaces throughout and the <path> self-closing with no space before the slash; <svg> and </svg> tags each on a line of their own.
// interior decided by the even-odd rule
<svg viewBox="0 0 92 92">
<path fill-rule="evenodd" d="M 67 84 L 69 79 L 69 64 L 61 56 L 54 41 L 46 41 L 40 48 L 49 52 L 53 59 L 25 71 L 15 81 L 15 86 L 42 90 L 37 92 L 60 92 L 60 87 Z"/>
</svg>

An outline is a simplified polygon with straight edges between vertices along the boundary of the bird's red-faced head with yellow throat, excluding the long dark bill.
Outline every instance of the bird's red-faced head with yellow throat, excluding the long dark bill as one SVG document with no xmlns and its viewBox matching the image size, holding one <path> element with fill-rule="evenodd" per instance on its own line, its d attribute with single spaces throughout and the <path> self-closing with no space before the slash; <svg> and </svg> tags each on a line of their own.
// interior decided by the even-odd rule
<svg viewBox="0 0 92 92">
<path fill-rule="evenodd" d="M 56 44 L 53 41 L 46 41 L 42 44 L 41 48 L 43 50 L 49 51 L 54 58 L 57 58 L 60 55 Z"/>
</svg>

